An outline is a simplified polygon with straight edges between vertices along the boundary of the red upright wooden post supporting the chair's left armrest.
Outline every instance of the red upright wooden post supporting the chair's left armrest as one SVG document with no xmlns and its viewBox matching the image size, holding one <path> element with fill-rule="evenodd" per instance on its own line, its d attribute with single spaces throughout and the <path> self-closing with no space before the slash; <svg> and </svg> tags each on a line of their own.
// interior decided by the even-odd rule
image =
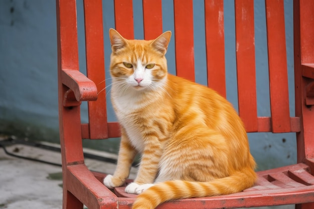
<svg viewBox="0 0 314 209">
<path fill-rule="evenodd" d="M 63 81 L 65 78 L 64 69 L 71 69 L 78 72 L 78 45 L 76 29 L 76 4 L 75 1 L 56 1 L 57 9 L 57 44 L 58 44 L 58 94 L 59 94 L 59 127 L 60 144 L 63 165 L 74 162 L 82 162 L 83 153 L 80 152 L 82 144 L 80 141 L 80 108 L 64 107 L 63 100 L 65 93 L 69 90 Z M 73 81 L 75 82 L 75 81 Z M 71 86 L 70 84 L 67 84 Z M 84 96 L 82 96 L 84 97 Z M 79 96 L 81 98 L 81 96 Z M 74 143 L 74 144 L 73 144 Z M 68 152 L 68 149 L 74 153 Z"/>
</svg>

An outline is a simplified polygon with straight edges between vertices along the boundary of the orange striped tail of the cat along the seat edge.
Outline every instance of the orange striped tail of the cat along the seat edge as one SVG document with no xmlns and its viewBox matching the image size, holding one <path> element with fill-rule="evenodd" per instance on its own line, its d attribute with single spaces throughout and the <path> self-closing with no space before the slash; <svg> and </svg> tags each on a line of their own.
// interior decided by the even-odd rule
<svg viewBox="0 0 314 209">
<path fill-rule="evenodd" d="M 209 182 L 165 181 L 139 194 L 132 209 L 153 209 L 165 201 L 174 199 L 231 194 L 252 186 L 255 179 L 256 173 L 248 168 Z"/>
</svg>

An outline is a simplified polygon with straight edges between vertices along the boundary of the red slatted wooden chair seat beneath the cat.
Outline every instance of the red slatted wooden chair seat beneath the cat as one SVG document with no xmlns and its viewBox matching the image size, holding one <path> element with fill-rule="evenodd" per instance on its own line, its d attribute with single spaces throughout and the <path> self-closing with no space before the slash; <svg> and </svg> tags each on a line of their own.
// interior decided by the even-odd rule
<svg viewBox="0 0 314 209">
<path fill-rule="evenodd" d="M 206 204 L 206 208 L 227 207 L 237 201 L 242 207 L 260 205 L 292 204 L 297 198 L 299 201 L 314 201 L 314 176 L 309 173 L 309 167 L 303 163 L 257 172 L 258 179 L 254 186 L 234 194 L 212 196 L 205 198 L 190 198 L 175 200 L 165 204 L 195 204 L 198 201 Z M 131 182 L 128 180 L 127 183 Z M 127 184 L 126 183 L 126 184 Z M 118 197 L 135 198 L 136 194 L 124 191 L 125 186 L 116 187 L 114 193 Z M 208 205 L 207 205 L 208 204 Z M 204 206 L 203 206 L 204 207 Z"/>
</svg>

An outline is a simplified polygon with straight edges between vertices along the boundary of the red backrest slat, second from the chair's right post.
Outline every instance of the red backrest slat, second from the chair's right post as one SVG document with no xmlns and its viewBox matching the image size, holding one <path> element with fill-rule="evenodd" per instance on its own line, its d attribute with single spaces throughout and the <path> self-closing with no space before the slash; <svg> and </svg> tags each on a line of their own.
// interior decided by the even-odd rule
<svg viewBox="0 0 314 209">
<path fill-rule="evenodd" d="M 256 106 L 254 2 L 235 1 L 239 115 L 248 132 L 258 130 Z"/>
</svg>

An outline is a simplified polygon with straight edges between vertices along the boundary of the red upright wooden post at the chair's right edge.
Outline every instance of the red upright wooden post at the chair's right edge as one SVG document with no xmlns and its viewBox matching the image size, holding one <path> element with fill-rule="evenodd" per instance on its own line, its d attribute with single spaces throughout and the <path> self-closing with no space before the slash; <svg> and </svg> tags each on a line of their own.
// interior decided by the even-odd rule
<svg viewBox="0 0 314 209">
<path fill-rule="evenodd" d="M 312 111 L 312 105 L 307 106 L 306 100 L 306 86 L 313 81 L 313 79 L 304 78 L 302 76 L 307 70 L 304 70 L 304 60 L 309 62 L 310 54 L 307 53 L 307 46 L 311 46 L 312 37 L 308 34 L 313 34 L 313 28 L 308 26 L 313 24 L 312 14 L 310 11 L 314 9 L 312 2 L 307 1 L 294 1 L 293 2 L 293 19 L 294 19 L 294 78 L 295 78 L 295 115 L 301 119 L 301 131 L 297 136 L 297 161 L 307 162 L 310 165 L 313 162 L 309 159 L 314 156 L 314 140 L 313 140 L 313 128 L 314 120 L 312 119 L 314 111 Z M 303 57 L 304 56 L 304 57 Z M 307 64 L 305 64 L 307 66 Z M 306 68 L 306 67 L 305 67 Z M 307 68 L 308 69 L 308 68 Z M 305 72 L 302 72 L 305 71 Z M 311 166 L 314 170 L 314 167 Z M 314 207 L 314 205 L 312 205 Z"/>
</svg>

